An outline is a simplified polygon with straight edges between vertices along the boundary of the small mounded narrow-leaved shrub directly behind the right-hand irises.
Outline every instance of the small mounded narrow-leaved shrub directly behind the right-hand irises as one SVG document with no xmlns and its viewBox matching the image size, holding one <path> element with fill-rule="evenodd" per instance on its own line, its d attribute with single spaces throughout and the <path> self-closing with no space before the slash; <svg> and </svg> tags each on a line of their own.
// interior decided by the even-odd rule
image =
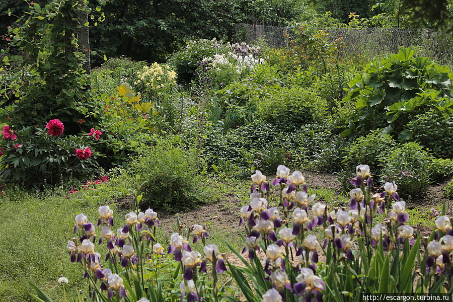
<svg viewBox="0 0 453 302">
<path fill-rule="evenodd" d="M 403 198 L 426 194 L 432 157 L 416 142 L 405 143 L 383 157 L 380 180 L 398 183 Z"/>
</svg>

